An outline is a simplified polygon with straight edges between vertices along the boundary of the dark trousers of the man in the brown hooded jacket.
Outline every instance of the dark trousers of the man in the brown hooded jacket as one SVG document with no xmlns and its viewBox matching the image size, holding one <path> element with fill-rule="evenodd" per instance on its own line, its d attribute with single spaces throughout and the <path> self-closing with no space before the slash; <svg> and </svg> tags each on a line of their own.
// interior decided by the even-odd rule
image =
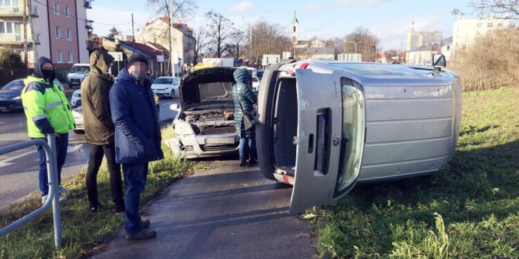
<svg viewBox="0 0 519 259">
<path fill-rule="evenodd" d="M 107 158 L 108 172 L 110 174 L 111 200 L 116 210 L 125 209 L 122 199 L 122 177 L 120 175 L 120 164 L 116 163 L 116 145 L 107 144 L 98 146 L 90 145 L 89 168 L 86 170 L 86 193 L 89 195 L 90 207 L 98 207 L 98 172 L 102 163 L 102 157 Z"/>
</svg>

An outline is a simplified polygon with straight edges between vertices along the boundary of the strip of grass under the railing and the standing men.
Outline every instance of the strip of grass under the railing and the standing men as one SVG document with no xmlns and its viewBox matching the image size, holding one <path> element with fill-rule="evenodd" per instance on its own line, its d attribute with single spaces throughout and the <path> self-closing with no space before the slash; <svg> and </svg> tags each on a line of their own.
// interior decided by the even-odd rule
<svg viewBox="0 0 519 259">
<path fill-rule="evenodd" d="M 164 140 L 172 136 L 172 129 L 163 130 Z M 175 159 L 163 145 L 165 160 L 152 162 L 145 192 L 141 195 L 141 208 L 177 178 L 192 171 L 192 163 Z M 51 209 L 24 227 L 0 238 L 0 258 L 81 258 L 104 243 L 111 233 L 120 228 L 124 215 L 114 215 L 111 210 L 92 214 L 88 210 L 88 198 L 84 186 L 85 172 L 64 181 L 72 193 L 62 203 L 63 248 L 54 249 L 53 218 Z M 100 201 L 108 209 L 113 208 L 107 167 L 103 164 L 98 175 Z M 22 204 L 10 207 L 0 214 L 0 226 L 21 218 L 41 206 L 39 195 L 33 195 Z M 145 208 L 143 208 L 145 209 Z"/>
</svg>

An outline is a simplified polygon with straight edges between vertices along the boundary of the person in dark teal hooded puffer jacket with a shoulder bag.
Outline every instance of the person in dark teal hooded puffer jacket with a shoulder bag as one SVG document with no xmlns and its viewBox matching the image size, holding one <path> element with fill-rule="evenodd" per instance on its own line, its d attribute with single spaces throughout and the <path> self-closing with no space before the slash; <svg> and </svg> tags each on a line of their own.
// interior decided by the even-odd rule
<svg viewBox="0 0 519 259">
<path fill-rule="evenodd" d="M 257 103 L 257 96 L 249 84 L 251 76 L 248 70 L 245 68 L 237 69 L 234 77 L 236 84 L 233 86 L 233 100 L 235 102 L 236 133 L 239 137 L 239 166 L 253 166 L 257 164 L 255 159 L 255 128 L 246 131 L 243 116 L 244 113 L 255 112 L 254 105 Z"/>
</svg>

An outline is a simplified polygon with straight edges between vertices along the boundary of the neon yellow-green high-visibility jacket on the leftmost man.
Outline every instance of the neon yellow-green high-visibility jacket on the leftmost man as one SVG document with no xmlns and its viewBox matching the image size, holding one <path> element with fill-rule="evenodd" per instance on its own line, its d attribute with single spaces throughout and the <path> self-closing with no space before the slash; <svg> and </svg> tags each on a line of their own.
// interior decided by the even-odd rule
<svg viewBox="0 0 519 259">
<path fill-rule="evenodd" d="M 67 133 L 75 128 L 71 106 L 62 88 L 57 83 L 48 84 L 42 78 L 28 77 L 21 91 L 21 102 L 24 104 L 27 117 L 29 137 L 45 137 L 37 126 L 41 119 L 48 120 L 55 133 Z"/>
</svg>

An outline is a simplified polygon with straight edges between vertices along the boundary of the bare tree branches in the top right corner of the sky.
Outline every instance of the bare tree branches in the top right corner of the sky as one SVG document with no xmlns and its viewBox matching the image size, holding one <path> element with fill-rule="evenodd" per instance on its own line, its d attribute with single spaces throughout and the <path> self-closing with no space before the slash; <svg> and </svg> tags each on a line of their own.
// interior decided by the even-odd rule
<svg viewBox="0 0 519 259">
<path fill-rule="evenodd" d="M 470 6 L 479 17 L 519 19 L 519 1 L 517 0 L 473 0 Z"/>
</svg>

